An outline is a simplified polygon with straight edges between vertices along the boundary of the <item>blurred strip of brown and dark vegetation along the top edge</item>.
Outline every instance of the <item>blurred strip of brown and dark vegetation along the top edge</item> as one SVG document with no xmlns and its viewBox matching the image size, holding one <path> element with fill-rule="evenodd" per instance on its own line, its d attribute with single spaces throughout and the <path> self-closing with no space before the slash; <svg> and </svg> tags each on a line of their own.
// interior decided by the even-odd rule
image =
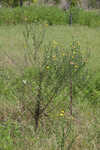
<svg viewBox="0 0 100 150">
<path fill-rule="evenodd" d="M 81 5 L 81 7 L 85 8 L 100 8 L 100 2 L 99 0 L 1 0 L 0 3 L 4 7 L 22 7 L 24 3 L 27 5 L 31 5 L 32 3 L 38 3 L 38 4 L 65 4 L 66 2 L 72 3 L 74 6 L 76 4 Z"/>
</svg>

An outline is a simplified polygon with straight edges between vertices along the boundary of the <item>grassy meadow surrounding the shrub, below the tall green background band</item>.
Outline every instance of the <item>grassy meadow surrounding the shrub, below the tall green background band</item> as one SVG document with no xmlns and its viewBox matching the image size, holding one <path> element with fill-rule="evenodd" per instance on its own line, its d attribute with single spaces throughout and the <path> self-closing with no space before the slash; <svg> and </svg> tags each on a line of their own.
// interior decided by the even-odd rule
<svg viewBox="0 0 100 150">
<path fill-rule="evenodd" d="M 38 63 L 41 63 L 41 61 L 37 59 L 35 67 L 33 62 L 29 62 L 31 63 L 31 67 L 29 66 L 29 68 L 25 68 L 24 66 L 26 63 L 25 52 L 27 53 L 27 48 L 29 48 L 29 43 L 26 43 L 28 39 L 25 41 L 24 36 L 24 32 L 26 31 L 25 25 L 0 26 L 0 149 L 99 150 L 100 27 L 90 28 L 79 25 L 49 26 L 47 24 L 44 24 L 44 26 L 46 26 L 46 28 L 45 36 L 41 39 L 42 48 L 35 45 L 36 43 L 33 44 L 33 48 L 35 45 L 36 50 L 41 48 L 42 51 L 44 51 L 44 45 L 48 45 L 47 49 L 51 50 L 52 47 L 49 43 L 54 43 L 54 48 L 58 46 L 61 53 L 64 51 L 62 55 L 65 56 L 66 48 L 67 51 L 69 51 L 73 41 L 78 41 L 80 51 L 82 51 L 83 55 L 89 51 L 87 63 L 90 75 L 89 81 L 87 81 L 85 88 L 76 88 L 76 94 L 73 94 L 72 115 L 70 115 L 69 110 L 70 95 L 68 92 L 70 90 L 68 90 L 67 85 L 61 83 L 64 88 L 56 93 L 53 97 L 54 101 L 52 104 L 48 104 L 46 100 L 41 102 L 41 109 L 42 107 L 45 108 L 46 104 L 48 104 L 48 106 L 44 114 L 40 116 L 38 129 L 35 131 L 35 106 L 32 105 L 35 103 L 34 99 L 36 95 L 38 96 L 36 91 L 42 88 L 39 97 L 42 97 L 42 99 L 46 99 L 47 97 L 49 101 L 50 96 L 53 96 L 52 89 L 54 87 L 52 87 L 52 84 L 60 84 L 59 78 L 56 81 L 60 70 L 58 70 L 57 76 L 57 72 L 55 74 L 53 74 L 52 71 L 50 74 L 47 73 L 53 64 L 51 60 L 50 62 L 46 60 L 47 62 L 45 63 L 48 63 L 48 66 L 46 66 L 47 71 L 44 70 L 44 67 L 43 83 L 39 85 L 38 83 L 42 81 L 41 76 L 40 78 L 38 77 L 39 70 L 37 66 L 39 67 Z M 32 27 L 34 29 L 34 24 Z M 32 35 L 34 35 L 34 33 L 35 31 Z M 40 33 L 38 32 L 36 34 L 38 34 L 36 39 L 38 42 L 41 35 L 39 35 Z M 30 45 L 32 47 L 32 43 Z M 65 50 L 63 50 L 64 48 Z M 46 51 L 46 53 L 48 54 L 49 52 Z M 56 49 L 55 53 L 57 53 Z M 45 55 L 47 56 L 47 54 Z M 42 52 L 39 55 L 42 57 Z M 51 53 L 48 58 L 50 58 L 50 56 Z M 53 56 L 53 59 L 57 56 L 58 53 L 56 56 Z M 28 55 L 28 57 L 30 61 L 31 56 Z M 39 56 L 39 58 L 41 57 Z M 60 62 L 60 58 L 59 56 L 56 66 L 58 63 L 62 63 Z M 64 65 L 66 64 L 67 63 L 64 63 Z M 32 67 L 34 67 L 34 69 Z M 42 68 L 41 65 L 40 68 Z M 61 71 L 63 72 L 62 69 Z M 65 74 L 67 75 L 66 72 Z M 64 75 L 63 78 L 66 79 Z M 61 80 L 61 82 L 64 81 Z M 78 82 L 81 83 L 82 81 Z M 60 85 L 58 88 L 60 88 Z M 56 91 L 56 89 L 54 90 Z M 46 95 L 46 92 L 49 96 Z M 23 108 L 21 106 L 23 106 Z"/>
</svg>

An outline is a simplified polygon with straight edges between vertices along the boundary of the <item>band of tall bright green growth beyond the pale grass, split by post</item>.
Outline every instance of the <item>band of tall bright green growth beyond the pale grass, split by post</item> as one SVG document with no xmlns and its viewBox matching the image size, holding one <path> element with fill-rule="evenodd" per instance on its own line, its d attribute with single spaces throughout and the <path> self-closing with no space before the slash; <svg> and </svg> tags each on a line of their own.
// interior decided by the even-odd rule
<svg viewBox="0 0 100 150">
<path fill-rule="evenodd" d="M 69 24 L 69 11 L 64 12 L 57 7 L 30 6 L 23 8 L 1 8 L 0 24 L 19 24 L 33 22 L 47 22 L 50 25 Z M 72 8 L 73 24 L 100 26 L 98 12 L 85 11 L 79 8 Z"/>
</svg>

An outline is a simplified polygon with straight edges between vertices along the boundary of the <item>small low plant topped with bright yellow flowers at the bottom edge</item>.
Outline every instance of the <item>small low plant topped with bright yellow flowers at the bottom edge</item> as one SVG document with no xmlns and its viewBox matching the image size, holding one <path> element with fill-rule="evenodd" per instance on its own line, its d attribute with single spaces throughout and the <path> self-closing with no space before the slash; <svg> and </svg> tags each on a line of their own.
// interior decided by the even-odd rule
<svg viewBox="0 0 100 150">
<path fill-rule="evenodd" d="M 57 149 L 58 150 L 70 150 L 72 148 L 73 143 L 76 140 L 76 133 L 75 135 L 73 134 L 74 128 L 73 128 L 73 121 L 72 118 L 70 117 L 69 120 L 65 117 L 64 111 L 61 111 L 61 114 L 59 116 L 59 125 L 56 125 L 54 127 L 54 134 L 56 137 L 56 142 L 57 142 Z M 66 128 L 67 126 L 67 128 Z M 70 141 L 68 142 L 70 138 Z"/>
</svg>

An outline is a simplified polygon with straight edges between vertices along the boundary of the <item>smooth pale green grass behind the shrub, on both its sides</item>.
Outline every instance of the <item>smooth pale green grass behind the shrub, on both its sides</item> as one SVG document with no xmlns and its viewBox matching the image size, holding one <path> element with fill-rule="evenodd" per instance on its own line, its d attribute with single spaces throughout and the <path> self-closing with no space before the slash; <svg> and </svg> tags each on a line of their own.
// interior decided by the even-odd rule
<svg viewBox="0 0 100 150">
<path fill-rule="evenodd" d="M 0 52 L 2 55 L 4 52 L 8 52 L 11 57 L 18 57 L 20 61 L 22 60 L 21 55 L 23 55 L 24 50 L 23 31 L 24 25 L 0 27 Z M 68 46 L 73 38 L 78 39 L 84 51 L 90 49 L 91 59 L 89 66 L 92 70 L 96 71 L 100 68 L 99 36 L 100 28 L 55 25 L 47 28 L 44 42 L 48 43 L 49 41 L 56 40 Z"/>
</svg>

